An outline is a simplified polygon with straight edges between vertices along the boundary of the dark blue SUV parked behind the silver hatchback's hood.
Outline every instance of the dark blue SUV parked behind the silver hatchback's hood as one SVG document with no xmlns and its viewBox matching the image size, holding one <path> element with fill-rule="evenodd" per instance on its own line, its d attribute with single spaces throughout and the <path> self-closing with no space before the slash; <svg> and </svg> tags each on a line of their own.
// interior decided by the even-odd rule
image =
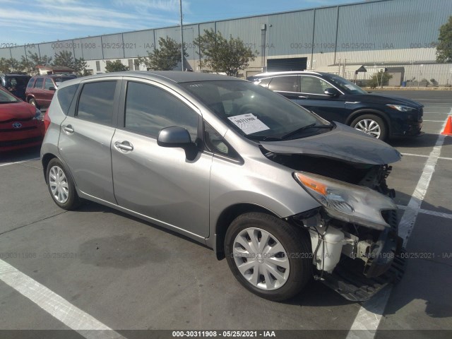
<svg viewBox="0 0 452 339">
<path fill-rule="evenodd" d="M 381 140 L 422 133 L 424 106 L 420 103 L 368 93 L 331 73 L 261 73 L 248 80 L 284 95 L 324 119 L 350 125 Z"/>
</svg>

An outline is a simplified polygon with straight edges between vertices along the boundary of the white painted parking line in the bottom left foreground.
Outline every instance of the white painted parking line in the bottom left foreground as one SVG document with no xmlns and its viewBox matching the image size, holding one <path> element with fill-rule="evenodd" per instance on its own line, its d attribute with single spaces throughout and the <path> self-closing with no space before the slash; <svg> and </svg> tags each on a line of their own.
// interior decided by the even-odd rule
<svg viewBox="0 0 452 339">
<path fill-rule="evenodd" d="M 97 321 L 93 316 L 86 314 L 3 260 L 0 260 L 0 280 L 85 338 L 124 339 L 122 335 Z"/>
</svg>

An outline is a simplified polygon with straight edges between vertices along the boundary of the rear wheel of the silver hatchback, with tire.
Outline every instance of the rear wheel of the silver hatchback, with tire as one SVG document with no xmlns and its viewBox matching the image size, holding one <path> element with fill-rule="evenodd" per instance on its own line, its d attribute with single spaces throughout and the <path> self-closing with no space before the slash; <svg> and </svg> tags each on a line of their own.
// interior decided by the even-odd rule
<svg viewBox="0 0 452 339">
<path fill-rule="evenodd" d="M 50 196 L 59 207 L 64 210 L 75 210 L 80 206 L 81 201 L 71 176 L 57 158 L 49 161 L 46 178 Z"/>
</svg>

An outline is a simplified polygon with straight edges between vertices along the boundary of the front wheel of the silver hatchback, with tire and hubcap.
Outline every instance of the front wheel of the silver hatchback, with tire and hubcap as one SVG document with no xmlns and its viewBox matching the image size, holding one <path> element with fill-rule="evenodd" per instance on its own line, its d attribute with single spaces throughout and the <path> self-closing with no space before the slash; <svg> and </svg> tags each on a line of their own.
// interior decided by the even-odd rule
<svg viewBox="0 0 452 339">
<path fill-rule="evenodd" d="M 225 254 L 239 283 L 275 302 L 294 297 L 311 278 L 310 239 L 272 215 L 246 213 L 234 219 L 226 232 Z"/>
</svg>

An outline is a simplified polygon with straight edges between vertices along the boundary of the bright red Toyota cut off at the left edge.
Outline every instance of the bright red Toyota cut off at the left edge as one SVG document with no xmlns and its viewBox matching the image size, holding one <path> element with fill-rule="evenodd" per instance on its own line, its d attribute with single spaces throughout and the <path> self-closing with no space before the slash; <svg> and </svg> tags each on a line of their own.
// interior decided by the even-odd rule
<svg viewBox="0 0 452 339">
<path fill-rule="evenodd" d="M 40 145 L 44 133 L 40 110 L 0 86 L 0 152 Z"/>
</svg>

